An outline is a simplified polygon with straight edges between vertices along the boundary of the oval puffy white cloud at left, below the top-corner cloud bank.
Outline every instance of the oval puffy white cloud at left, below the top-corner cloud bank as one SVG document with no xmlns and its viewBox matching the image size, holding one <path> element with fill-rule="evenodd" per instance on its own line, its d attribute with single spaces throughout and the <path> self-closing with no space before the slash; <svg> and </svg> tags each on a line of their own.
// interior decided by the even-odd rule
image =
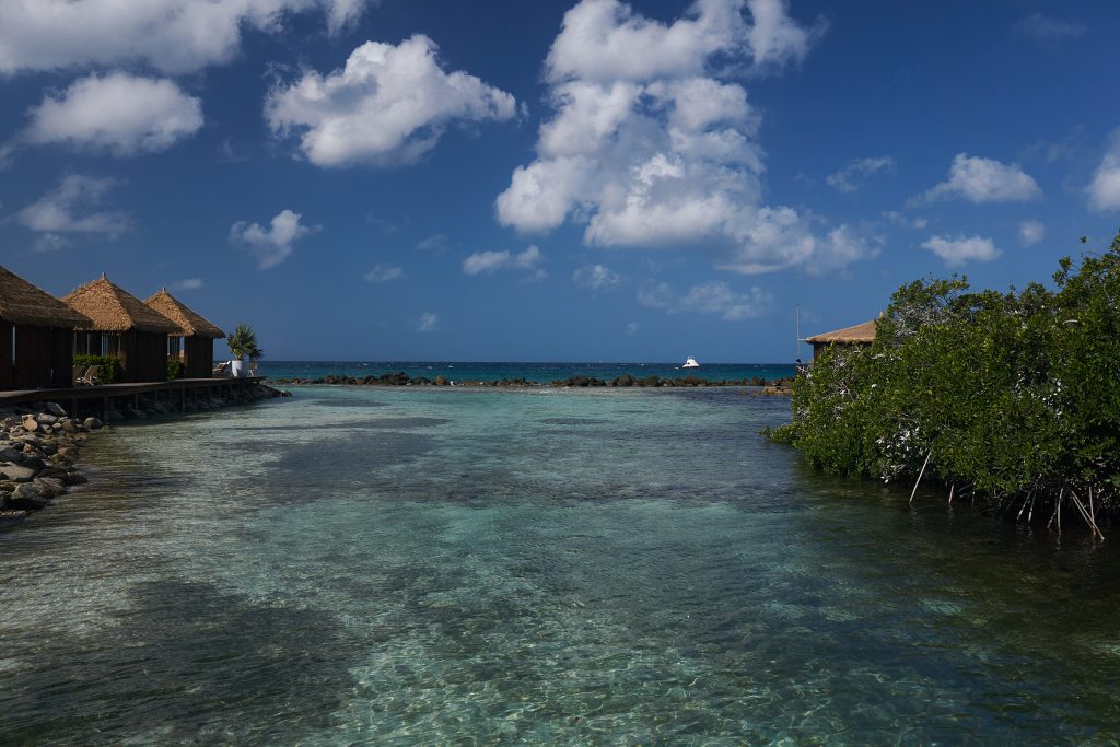
<svg viewBox="0 0 1120 747">
<path fill-rule="evenodd" d="M 91 75 L 30 110 L 22 140 L 134 156 L 166 150 L 203 125 L 202 102 L 166 80 Z"/>
</svg>

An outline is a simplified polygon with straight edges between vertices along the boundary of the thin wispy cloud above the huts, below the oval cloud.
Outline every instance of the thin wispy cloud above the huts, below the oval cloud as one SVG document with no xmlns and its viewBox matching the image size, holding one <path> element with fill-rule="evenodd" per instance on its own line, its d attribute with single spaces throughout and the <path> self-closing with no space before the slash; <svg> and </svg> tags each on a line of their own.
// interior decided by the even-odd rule
<svg viewBox="0 0 1120 747">
<path fill-rule="evenodd" d="M 131 227 L 129 216 L 90 208 L 99 205 L 105 193 L 121 184 L 108 177 L 78 174 L 63 177 L 55 189 L 17 213 L 16 220 L 31 231 L 53 236 L 41 240 L 40 248 L 44 250 L 60 249 L 66 244 L 58 234 L 103 234 L 115 239 Z"/>
</svg>

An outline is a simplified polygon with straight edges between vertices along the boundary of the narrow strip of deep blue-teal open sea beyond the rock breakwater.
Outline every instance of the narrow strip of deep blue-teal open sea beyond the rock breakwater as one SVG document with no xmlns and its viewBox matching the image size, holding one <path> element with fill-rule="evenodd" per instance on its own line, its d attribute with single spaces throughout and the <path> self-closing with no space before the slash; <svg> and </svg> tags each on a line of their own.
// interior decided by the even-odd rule
<svg viewBox="0 0 1120 747">
<path fill-rule="evenodd" d="M 681 362 L 683 363 L 683 361 Z M 702 362 L 701 362 L 702 363 Z M 699 368 L 681 368 L 680 363 L 454 363 L 424 361 L 261 361 L 260 374 L 272 379 L 320 379 L 323 376 L 380 376 L 403 371 L 409 376 L 444 376 L 451 381 L 501 381 L 525 379 L 547 384 L 571 376 L 612 380 L 623 374 L 636 377 L 678 379 L 697 376 L 708 381 L 743 381 L 755 376 L 793 376 L 793 364 L 717 363 Z"/>
</svg>

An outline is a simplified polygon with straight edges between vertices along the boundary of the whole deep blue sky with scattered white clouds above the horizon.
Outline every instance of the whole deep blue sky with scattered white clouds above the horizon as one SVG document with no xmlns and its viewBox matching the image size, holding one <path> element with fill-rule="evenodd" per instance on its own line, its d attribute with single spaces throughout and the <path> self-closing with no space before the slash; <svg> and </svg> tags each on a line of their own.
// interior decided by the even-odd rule
<svg viewBox="0 0 1120 747">
<path fill-rule="evenodd" d="M 1120 227 L 1116 2 L 118 4 L 0 0 L 0 263 L 272 358 L 790 361 Z"/>
</svg>

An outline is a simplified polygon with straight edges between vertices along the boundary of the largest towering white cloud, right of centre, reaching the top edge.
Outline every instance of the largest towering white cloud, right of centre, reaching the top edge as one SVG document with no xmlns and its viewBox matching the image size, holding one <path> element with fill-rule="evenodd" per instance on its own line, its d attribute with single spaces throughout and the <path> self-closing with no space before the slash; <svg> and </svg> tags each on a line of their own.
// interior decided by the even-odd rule
<svg viewBox="0 0 1120 747">
<path fill-rule="evenodd" d="M 554 114 L 535 160 L 498 195 L 498 221 L 525 232 L 573 221 L 586 244 L 711 249 L 743 273 L 872 253 L 852 232 L 831 241 L 809 216 L 760 204 L 760 118 L 726 80 L 729 60 L 757 71 L 801 59 L 822 28 L 778 0 L 700 0 L 668 24 L 582 0 L 545 60 Z"/>
</svg>

